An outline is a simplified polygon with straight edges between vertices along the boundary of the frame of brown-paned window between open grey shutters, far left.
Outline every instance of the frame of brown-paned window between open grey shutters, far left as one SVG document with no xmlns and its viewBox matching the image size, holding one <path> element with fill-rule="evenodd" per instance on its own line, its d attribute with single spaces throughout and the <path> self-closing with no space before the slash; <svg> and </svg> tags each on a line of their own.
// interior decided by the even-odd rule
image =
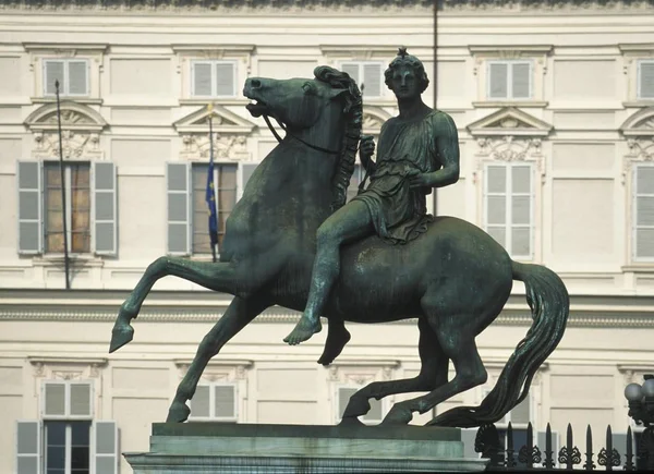
<svg viewBox="0 0 654 474">
<path fill-rule="evenodd" d="M 72 170 L 71 166 L 75 165 L 85 165 L 88 167 L 88 252 L 73 252 L 73 203 L 72 203 L 72 194 L 73 194 L 73 183 L 72 183 Z M 55 160 L 44 160 L 43 162 L 43 203 L 41 203 L 41 219 L 43 219 L 43 252 L 44 255 L 63 255 L 64 252 L 52 252 L 48 250 L 48 208 L 47 208 L 47 193 L 48 193 L 48 182 L 47 182 L 47 167 L 58 167 L 59 162 Z M 64 167 L 64 180 L 65 187 L 63 190 L 65 195 L 65 205 L 66 208 L 63 209 L 65 223 L 66 223 L 66 241 L 68 241 L 68 253 L 69 255 L 92 255 L 94 254 L 93 242 L 94 242 L 94 224 L 95 224 L 95 216 L 94 216 L 94 177 L 93 177 L 93 161 L 90 160 L 75 160 L 75 161 L 65 161 L 63 163 Z"/>
</svg>

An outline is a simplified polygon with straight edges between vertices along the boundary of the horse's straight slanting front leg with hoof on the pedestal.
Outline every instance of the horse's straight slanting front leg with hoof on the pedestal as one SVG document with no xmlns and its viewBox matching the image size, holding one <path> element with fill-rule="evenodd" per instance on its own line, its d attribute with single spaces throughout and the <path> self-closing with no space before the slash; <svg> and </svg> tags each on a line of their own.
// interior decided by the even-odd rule
<svg viewBox="0 0 654 474">
<path fill-rule="evenodd" d="M 189 417 L 191 410 L 186 405 L 186 401 L 193 398 L 199 377 L 211 357 L 218 354 L 231 338 L 268 306 L 270 304 L 267 301 L 261 301 L 254 296 L 247 300 L 235 296 L 232 300 L 222 317 L 197 347 L 195 357 L 177 389 L 166 423 L 181 423 Z"/>
</svg>

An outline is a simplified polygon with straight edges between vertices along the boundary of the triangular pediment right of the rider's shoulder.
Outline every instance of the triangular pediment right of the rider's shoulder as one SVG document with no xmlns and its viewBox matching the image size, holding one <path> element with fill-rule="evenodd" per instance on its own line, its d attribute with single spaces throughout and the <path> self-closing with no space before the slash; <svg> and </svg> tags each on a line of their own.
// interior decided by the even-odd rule
<svg viewBox="0 0 654 474">
<path fill-rule="evenodd" d="M 505 107 L 468 125 L 472 136 L 547 136 L 553 126 L 514 107 Z"/>
</svg>

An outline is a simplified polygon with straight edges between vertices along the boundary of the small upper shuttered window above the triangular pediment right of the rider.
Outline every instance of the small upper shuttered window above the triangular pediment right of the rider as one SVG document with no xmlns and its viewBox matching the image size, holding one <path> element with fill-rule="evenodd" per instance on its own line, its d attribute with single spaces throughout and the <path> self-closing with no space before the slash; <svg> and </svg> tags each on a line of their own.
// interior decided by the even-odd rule
<svg viewBox="0 0 654 474">
<path fill-rule="evenodd" d="M 488 61 L 489 99 L 529 99 L 532 97 L 531 61 Z"/>
</svg>

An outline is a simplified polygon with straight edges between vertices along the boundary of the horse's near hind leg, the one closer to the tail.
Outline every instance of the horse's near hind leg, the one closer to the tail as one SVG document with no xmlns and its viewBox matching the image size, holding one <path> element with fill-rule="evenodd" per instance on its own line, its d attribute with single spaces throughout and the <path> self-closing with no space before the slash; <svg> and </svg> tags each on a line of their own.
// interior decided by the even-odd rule
<svg viewBox="0 0 654 474">
<path fill-rule="evenodd" d="M 423 302 L 423 307 L 425 306 Z M 488 378 L 474 341 L 477 327 L 475 316 L 467 314 L 436 316 L 431 308 L 426 309 L 429 325 L 438 338 L 443 352 L 452 361 L 456 376 L 425 396 L 396 403 L 383 424 L 408 424 L 414 412 L 426 413 L 438 403 L 485 384 Z"/>
</svg>

